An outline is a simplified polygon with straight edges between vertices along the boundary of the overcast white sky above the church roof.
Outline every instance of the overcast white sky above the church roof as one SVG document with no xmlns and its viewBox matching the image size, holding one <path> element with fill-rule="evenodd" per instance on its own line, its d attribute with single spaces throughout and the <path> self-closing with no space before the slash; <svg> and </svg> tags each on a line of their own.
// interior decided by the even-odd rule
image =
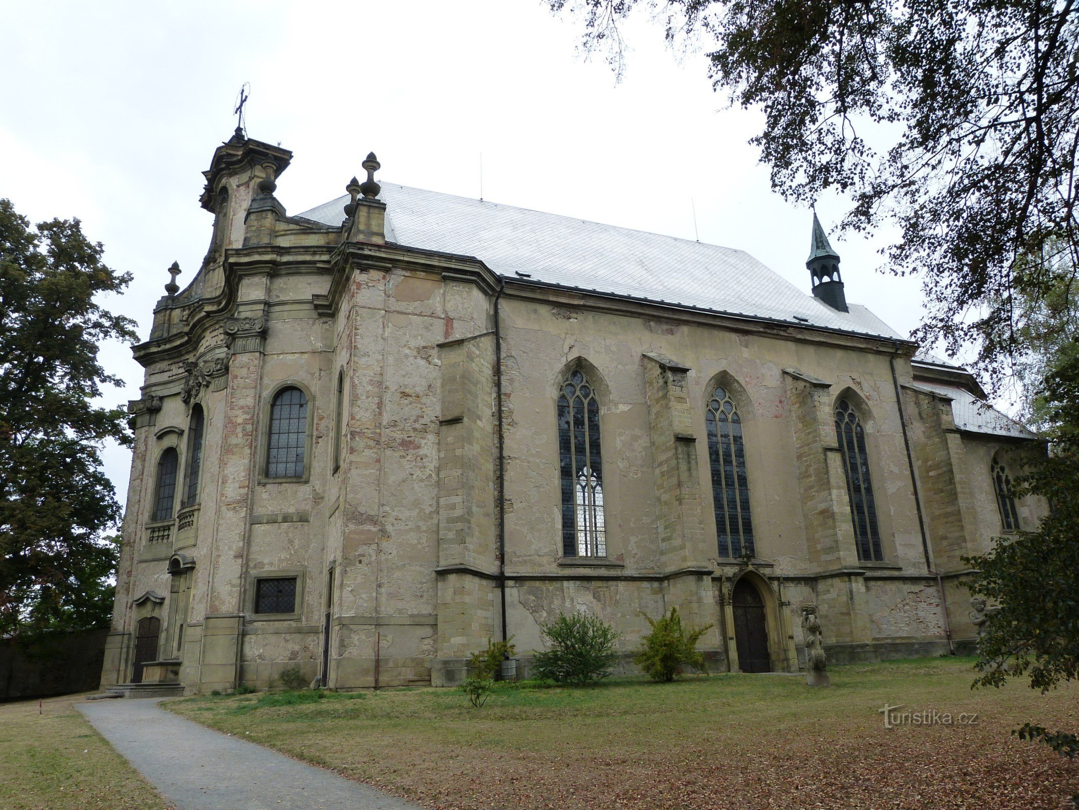
<svg viewBox="0 0 1079 810">
<path fill-rule="evenodd" d="M 745 249 L 808 291 L 810 214 L 770 191 L 747 145 L 756 112 L 724 109 L 706 59 L 644 18 L 620 84 L 577 52 L 579 24 L 543 0 L 6 2 L 0 9 L 0 197 L 32 221 L 79 217 L 131 271 L 112 303 L 149 333 L 173 260 L 191 280 L 210 235 L 201 172 L 235 126 L 295 158 L 276 195 L 299 213 L 344 193 L 368 151 L 381 179 Z M 842 200 L 821 200 L 832 229 Z M 847 297 L 903 334 L 920 284 L 875 272 L 874 241 L 835 240 Z M 138 396 L 127 347 L 103 348 Z M 129 456 L 106 453 L 123 502 Z"/>
</svg>

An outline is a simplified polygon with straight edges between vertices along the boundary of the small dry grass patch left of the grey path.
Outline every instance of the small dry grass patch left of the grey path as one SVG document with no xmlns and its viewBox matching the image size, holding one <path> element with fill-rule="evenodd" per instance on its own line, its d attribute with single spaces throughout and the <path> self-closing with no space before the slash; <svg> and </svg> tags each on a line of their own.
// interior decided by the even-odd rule
<svg viewBox="0 0 1079 810">
<path fill-rule="evenodd" d="M 85 694 L 0 703 L 0 808 L 164 810 L 170 807 L 74 704 Z"/>
</svg>

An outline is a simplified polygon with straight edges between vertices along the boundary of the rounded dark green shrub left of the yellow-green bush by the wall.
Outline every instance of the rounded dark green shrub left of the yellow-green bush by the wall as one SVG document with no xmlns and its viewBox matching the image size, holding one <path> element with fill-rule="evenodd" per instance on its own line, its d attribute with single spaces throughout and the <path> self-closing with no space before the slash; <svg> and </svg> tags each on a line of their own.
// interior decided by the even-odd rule
<svg viewBox="0 0 1079 810">
<path fill-rule="evenodd" d="M 584 686 L 605 678 L 618 661 L 617 631 L 593 616 L 559 613 L 543 634 L 550 649 L 532 660 L 532 674 L 541 680 Z"/>
</svg>

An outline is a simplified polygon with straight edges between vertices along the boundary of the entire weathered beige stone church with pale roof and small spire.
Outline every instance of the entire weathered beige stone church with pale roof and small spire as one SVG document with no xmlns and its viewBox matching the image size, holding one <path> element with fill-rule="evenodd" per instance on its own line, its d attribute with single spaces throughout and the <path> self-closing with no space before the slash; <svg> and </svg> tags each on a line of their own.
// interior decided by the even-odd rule
<svg viewBox="0 0 1079 810">
<path fill-rule="evenodd" d="M 154 309 L 104 685 L 448 685 L 587 611 L 670 607 L 720 671 L 975 635 L 965 555 L 1033 528 L 1038 447 L 962 368 L 740 251 L 374 179 L 298 216 L 291 153 L 205 172 L 210 248 Z M 800 656 L 802 662 L 800 663 Z"/>
</svg>

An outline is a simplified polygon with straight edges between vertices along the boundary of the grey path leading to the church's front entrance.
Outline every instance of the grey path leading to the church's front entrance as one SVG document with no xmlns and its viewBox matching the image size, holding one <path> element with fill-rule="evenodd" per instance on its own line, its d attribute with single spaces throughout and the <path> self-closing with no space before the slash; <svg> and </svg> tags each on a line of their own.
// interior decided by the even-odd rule
<svg viewBox="0 0 1079 810">
<path fill-rule="evenodd" d="M 404 799 L 213 731 L 155 700 L 79 705 L 177 810 L 419 810 Z"/>
</svg>

